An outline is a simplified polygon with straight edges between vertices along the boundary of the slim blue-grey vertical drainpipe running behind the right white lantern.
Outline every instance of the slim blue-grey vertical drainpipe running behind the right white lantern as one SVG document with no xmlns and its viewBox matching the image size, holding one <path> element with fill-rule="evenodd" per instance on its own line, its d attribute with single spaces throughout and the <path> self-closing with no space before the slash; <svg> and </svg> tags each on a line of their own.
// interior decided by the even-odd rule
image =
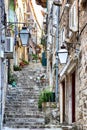
<svg viewBox="0 0 87 130">
<path fill-rule="evenodd" d="M 56 52 L 58 55 L 58 50 L 59 50 L 59 13 L 60 13 L 60 7 L 57 7 L 57 28 L 56 28 Z M 58 57 L 58 56 L 57 56 Z M 58 103 L 59 98 L 58 98 L 58 63 L 59 60 L 58 58 L 56 58 L 56 90 L 55 90 L 55 94 L 56 94 L 56 103 Z"/>
</svg>

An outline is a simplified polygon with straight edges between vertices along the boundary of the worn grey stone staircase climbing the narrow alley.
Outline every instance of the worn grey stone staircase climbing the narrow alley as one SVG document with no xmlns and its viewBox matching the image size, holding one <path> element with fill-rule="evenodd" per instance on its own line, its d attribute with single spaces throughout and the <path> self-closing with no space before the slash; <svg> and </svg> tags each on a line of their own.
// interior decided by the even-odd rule
<svg viewBox="0 0 87 130">
<path fill-rule="evenodd" d="M 38 110 L 40 88 L 36 85 L 36 71 L 27 66 L 17 76 L 17 87 L 8 85 L 4 126 L 10 128 L 44 128 L 45 116 Z"/>
</svg>

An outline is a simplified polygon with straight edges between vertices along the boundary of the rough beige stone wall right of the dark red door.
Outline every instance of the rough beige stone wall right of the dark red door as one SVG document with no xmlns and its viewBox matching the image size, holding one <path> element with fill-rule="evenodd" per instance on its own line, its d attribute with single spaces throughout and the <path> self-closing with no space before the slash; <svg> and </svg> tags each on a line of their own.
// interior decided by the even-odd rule
<svg viewBox="0 0 87 130">
<path fill-rule="evenodd" d="M 81 9 L 81 8 L 79 8 Z M 77 97 L 78 129 L 87 129 L 87 8 L 79 10 L 79 41 L 81 54 L 79 57 L 79 86 Z"/>
</svg>

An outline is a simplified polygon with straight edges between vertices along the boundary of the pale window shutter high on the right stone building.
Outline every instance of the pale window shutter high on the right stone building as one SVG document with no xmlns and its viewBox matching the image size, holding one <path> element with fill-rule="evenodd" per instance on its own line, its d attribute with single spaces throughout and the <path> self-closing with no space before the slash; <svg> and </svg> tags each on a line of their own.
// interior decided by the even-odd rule
<svg viewBox="0 0 87 130">
<path fill-rule="evenodd" d="M 78 31 L 78 9 L 77 0 L 74 1 L 69 11 L 69 28 L 76 32 Z"/>
</svg>

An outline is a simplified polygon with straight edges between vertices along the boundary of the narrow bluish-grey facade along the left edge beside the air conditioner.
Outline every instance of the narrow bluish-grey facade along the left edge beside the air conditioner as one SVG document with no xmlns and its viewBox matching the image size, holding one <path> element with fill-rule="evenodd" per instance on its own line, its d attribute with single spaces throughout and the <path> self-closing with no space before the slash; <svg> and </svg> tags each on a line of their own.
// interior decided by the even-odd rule
<svg viewBox="0 0 87 130">
<path fill-rule="evenodd" d="M 5 17 L 4 14 L 4 1 L 0 0 L 0 129 L 3 126 L 3 115 L 5 108 L 5 95 L 6 95 L 6 87 L 7 87 L 7 60 L 4 56 L 4 46 L 5 46 Z"/>
</svg>

